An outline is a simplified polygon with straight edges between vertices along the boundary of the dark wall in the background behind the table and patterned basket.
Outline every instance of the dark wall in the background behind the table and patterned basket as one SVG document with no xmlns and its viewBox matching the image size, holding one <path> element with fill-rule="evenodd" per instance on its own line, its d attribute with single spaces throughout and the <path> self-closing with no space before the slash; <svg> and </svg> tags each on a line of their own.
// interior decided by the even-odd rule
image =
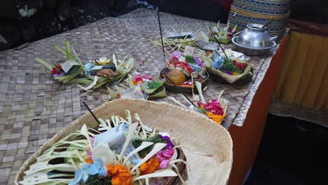
<svg viewBox="0 0 328 185">
<path fill-rule="evenodd" d="M 233 0 L 148 0 L 160 11 L 226 22 Z M 104 17 L 116 17 L 144 0 L 0 0 L 0 50 L 65 32 Z M 291 18 L 328 22 L 327 0 L 292 0 Z"/>
</svg>

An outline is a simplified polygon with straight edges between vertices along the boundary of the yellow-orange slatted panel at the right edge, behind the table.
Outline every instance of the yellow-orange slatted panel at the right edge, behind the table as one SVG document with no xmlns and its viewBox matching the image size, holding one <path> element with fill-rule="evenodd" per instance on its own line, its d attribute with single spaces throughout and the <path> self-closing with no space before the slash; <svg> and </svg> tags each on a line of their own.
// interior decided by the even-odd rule
<svg viewBox="0 0 328 185">
<path fill-rule="evenodd" d="M 275 96 L 296 106 L 328 111 L 328 37 L 291 32 Z"/>
</svg>

